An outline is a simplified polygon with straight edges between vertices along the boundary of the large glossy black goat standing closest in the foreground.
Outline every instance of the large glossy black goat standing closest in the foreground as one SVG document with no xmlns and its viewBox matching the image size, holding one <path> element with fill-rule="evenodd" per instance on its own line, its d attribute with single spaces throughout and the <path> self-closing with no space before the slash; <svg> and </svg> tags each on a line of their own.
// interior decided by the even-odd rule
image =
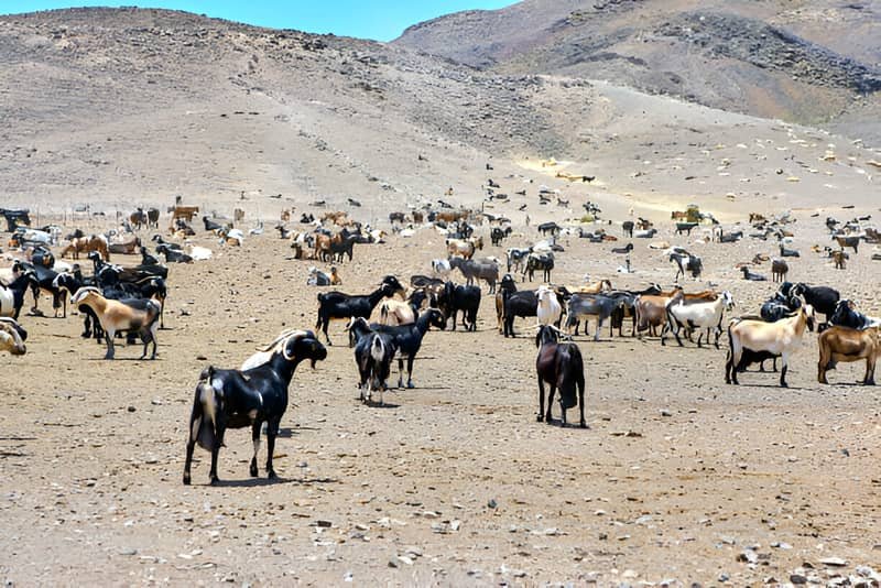
<svg viewBox="0 0 881 588">
<path fill-rule="evenodd" d="M 267 423 L 267 477 L 275 478 L 272 456 L 275 437 L 287 410 L 287 388 L 301 361 L 308 359 L 312 367 L 327 357 L 327 349 L 312 331 L 297 331 L 284 339 L 283 345 L 269 360 L 254 368 L 239 370 L 205 368 L 196 385 L 193 411 L 189 416 L 189 438 L 186 444 L 184 483 L 191 482 L 193 449 L 198 443 L 211 453 L 211 484 L 217 476 L 217 457 L 224 446 L 227 428 L 251 427 L 254 454 L 250 473 L 257 477 L 257 454 L 260 450 L 260 429 Z"/>
</svg>

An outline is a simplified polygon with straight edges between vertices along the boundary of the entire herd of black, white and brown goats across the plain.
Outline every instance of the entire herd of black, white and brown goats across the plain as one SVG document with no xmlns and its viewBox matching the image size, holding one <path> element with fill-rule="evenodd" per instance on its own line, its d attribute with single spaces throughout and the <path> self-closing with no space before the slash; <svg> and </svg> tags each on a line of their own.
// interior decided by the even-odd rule
<svg viewBox="0 0 881 588">
<path fill-rule="evenodd" d="M 357 203 L 350 203 L 357 206 Z M 398 386 L 414 388 L 413 364 L 426 334 L 432 329 L 456 330 L 457 325 L 466 331 L 477 329 L 477 315 L 483 293 L 480 281 L 488 286 L 488 295 L 494 303 L 497 328 L 504 337 L 515 337 L 516 317 L 534 318 L 536 377 L 539 383 L 537 420 L 552 423 L 552 405 L 558 395 L 561 423 L 567 424 L 566 411 L 579 409 L 579 425 L 585 421 L 585 364 L 573 336 L 578 335 L 580 323 L 587 335 L 587 323 L 594 320 L 594 339 L 598 340 L 605 324 L 609 334 L 624 336 L 630 320 L 630 336 L 660 336 L 661 345 L 673 337 L 678 346 L 694 341 L 697 347 L 713 345 L 719 349 L 725 328 L 725 314 L 730 313 L 735 300 L 728 291 L 705 290 L 686 292 L 678 285 L 679 276 L 690 274 L 697 279 L 703 272 L 703 260 L 682 247 L 667 242 L 651 241 L 650 248 L 659 249 L 675 266 L 676 285 L 664 291 L 657 284 L 649 284 L 640 291 L 616 290 L 610 280 L 586 282 L 577 286 L 552 283 L 555 257 L 564 253 L 558 239 L 562 236 L 588 239 L 605 243 L 618 241 L 611 235 L 618 227 L 622 237 L 654 239 L 659 230 L 646 219 L 624 220 L 612 224 L 598 221 L 601 210 L 591 203 L 585 209 L 597 220 L 595 229 L 567 228 L 556 222 L 544 222 L 534 227 L 539 238 L 530 247 L 509 248 L 504 259 L 480 257 L 485 236 L 492 246 L 501 247 L 512 235 L 511 221 L 487 213 L 455 209 L 442 203 L 434 210 L 411 210 L 407 214 L 392 213 L 389 217 L 390 232 L 399 238 L 411 238 L 431 225 L 445 237 L 445 255 L 431 260 L 431 272 L 412 275 L 409 286 L 399 277 L 387 275 L 372 292 L 351 295 L 334 290 L 317 295 L 317 322 L 314 330 L 286 330 L 254 353 L 239 369 L 206 368 L 198 378 L 189 421 L 186 447 L 184 483 L 191 481 L 191 464 L 195 445 L 211 454 L 210 481 L 218 480 L 217 457 L 224 445 L 227 428 L 251 427 L 254 454 L 250 464 L 251 476 L 258 475 L 258 450 L 260 433 L 267 425 L 269 477 L 274 477 L 272 455 L 275 437 L 287 407 L 287 389 L 294 370 L 301 361 L 316 361 L 327 357 L 319 342 L 320 335 L 330 344 L 328 327 L 333 320 L 347 320 L 346 333 L 354 349 L 358 371 L 360 399 L 367 404 L 383 403 L 382 393 L 388 389 L 392 363 L 398 360 Z M 141 241 L 141 230 L 157 229 L 160 211 L 155 208 L 137 209 L 119 227 L 107 233 L 86 235 L 76 230 L 62 238 L 63 229 L 46 226 L 30 227 L 28 210 L 0 209 L 6 217 L 10 249 L 7 259 L 11 266 L 0 269 L 0 351 L 21 356 L 26 352 L 28 333 L 20 323 L 21 309 L 26 294 L 33 296 L 29 316 L 40 316 L 41 294 L 52 296 L 55 316 L 67 315 L 67 301 L 79 309 L 84 320 L 83 337 L 94 338 L 106 345 L 106 359 L 113 359 L 116 340 L 126 338 L 128 344 L 143 345 L 141 359 L 150 355 L 155 359 L 157 335 L 164 326 L 164 308 L 168 295 L 168 266 L 173 263 L 193 263 L 210 258 L 208 248 L 193 246 L 186 238 L 196 235 L 193 219 L 198 207 L 184 206 L 180 202 L 168 209 L 171 237 L 159 232 L 152 235 L 154 252 Z M 282 213 L 282 222 L 276 230 L 293 249 L 294 259 L 311 259 L 315 263 L 344 263 L 354 258 L 356 244 L 382 243 L 388 233 L 381 229 L 363 226 L 349 218 L 347 213 L 326 213 L 320 218 L 303 214 L 300 229 L 287 229 L 292 211 Z M 793 243 L 792 218 L 788 213 L 775 218 L 751 214 L 749 229 L 725 231 L 710 215 L 700 215 L 695 221 L 683 221 L 674 213 L 675 235 L 690 235 L 699 229 L 707 241 L 733 242 L 740 239 L 775 239 L 780 257 L 769 259 L 757 255 L 750 263 L 739 264 L 744 280 L 763 281 L 764 275 L 754 272 L 761 263 L 771 263 L 772 279 L 780 282 L 779 290 L 765 301 L 757 315 L 729 318 L 727 323 L 728 351 L 725 363 L 725 380 L 737 384 L 738 374 L 753 363 L 764 371 L 764 362 L 773 361 L 777 370 L 780 360 L 780 385 L 786 385 L 790 359 L 801 347 L 806 331 L 819 331 L 818 381 L 827 383 L 826 373 L 837 362 L 866 361 L 863 383 L 874 383 L 874 366 L 879 355 L 879 326 L 881 320 L 861 314 L 856 304 L 842 298 L 838 291 L 824 285 L 808 285 L 786 281 L 787 258 L 800 257 L 791 249 Z M 233 228 L 241 224 L 243 211 L 237 209 L 232 222 L 222 218 L 202 217 L 205 231 L 213 232 L 222 247 L 241 246 L 246 238 L 263 232 L 262 224 L 248 231 Z M 818 254 L 835 261 L 844 269 L 848 259 L 846 249 L 858 254 L 861 242 L 881 242 L 878 232 L 866 227 L 869 217 L 839 222 L 826 219 L 830 240 L 837 248 L 814 248 Z M 616 229 L 616 232 L 619 232 Z M 529 230 L 529 229 L 527 229 Z M 486 233 L 486 235 L 478 235 Z M 181 243 L 181 241 L 184 241 Z M 630 252 L 633 243 L 613 247 L 613 255 L 622 255 L 623 264 L 618 271 L 630 273 Z M 53 248 L 55 252 L 53 252 Z M 57 253 L 57 255 L 56 255 Z M 121 266 L 111 262 L 113 254 L 140 254 L 141 263 Z M 72 257 L 73 262 L 64 258 Z M 90 273 L 79 264 L 90 262 Z M 877 259 L 877 255 L 873 255 Z M 88 266 L 88 264 L 87 264 Z M 503 270 L 504 268 L 504 270 Z M 453 281 L 458 271 L 465 283 Z M 542 284 L 535 288 L 519 288 L 532 282 L 541 272 Z M 312 266 L 309 285 L 340 286 L 342 284 L 337 265 L 329 273 Z M 459 318 L 461 314 L 461 318 Z M 817 324 L 817 316 L 824 322 Z M 406 380 L 404 381 L 404 371 Z M 545 398 L 547 386 L 547 398 Z M 378 399 L 374 400 L 374 395 Z"/>
</svg>

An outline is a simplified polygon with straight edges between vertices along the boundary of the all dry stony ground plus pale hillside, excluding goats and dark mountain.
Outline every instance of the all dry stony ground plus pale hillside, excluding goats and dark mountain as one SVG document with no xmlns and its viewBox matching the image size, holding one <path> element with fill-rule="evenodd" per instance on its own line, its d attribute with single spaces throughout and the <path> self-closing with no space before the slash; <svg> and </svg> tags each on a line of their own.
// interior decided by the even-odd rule
<svg viewBox="0 0 881 588">
<path fill-rule="evenodd" d="M 536 2 L 522 4 L 529 12 Z M 747 6 L 736 4 L 732 14 Z M 877 13 L 875 3 L 861 6 Z M 763 10 L 755 19 L 782 26 Z M 877 31 L 871 18 L 862 25 Z M 822 26 L 800 19 L 796 32 L 819 43 Z M 294 208 L 287 228 L 302 230 L 306 211 L 345 209 L 388 229 L 390 211 L 436 208 L 438 198 L 482 206 L 512 221 L 503 247 L 479 253 L 500 259 L 504 247 L 540 239 L 543 220 L 619 238 L 561 239 L 555 284 L 589 274 L 622 288 L 670 286 L 673 264 L 648 244 L 685 246 L 705 266 L 686 290 L 730 291 L 733 316 L 755 314 L 775 290 L 742 280 L 735 265 L 776 254 L 776 243 L 697 242 L 707 228 L 676 236 L 671 210 L 696 203 L 727 231 L 747 233 L 749 213 L 792 210 L 787 247 L 801 258 L 790 280 L 833 285 L 881 315 L 872 244 L 851 252 L 844 271 L 812 251 L 834 243 L 827 216 L 872 216 L 863 226 L 873 226 L 881 215 L 877 117 L 855 108 L 824 126 L 817 112 L 760 118 L 768 111 L 746 101 L 730 112 L 583 69 L 521 69 L 534 54 L 520 45 L 515 61 L 475 68 L 453 61 L 460 55 L 432 55 L 414 34 L 378 44 L 134 9 L 0 18 L 0 207 L 28 207 L 40 215 L 35 225 L 59 222 L 66 233 L 116 228 L 118 214 L 157 206 L 159 232 L 170 238 L 165 208 L 181 195 L 207 215 L 241 208 L 243 229 L 264 227 L 235 248 L 194 224 L 191 241 L 214 258 L 171 266 L 155 361 L 138 361 L 140 346 L 102 360 L 104 346 L 80 338 L 76 309 L 54 318 L 44 296 L 45 316 L 34 316 L 29 295 L 28 353 L 0 356 L 0 579 L 878 586 L 881 417 L 874 388 L 856 383 L 862 363 L 839 364 L 830 385 L 818 384 L 811 334 L 788 389 L 777 373 L 755 371 L 732 386 L 725 337 L 718 350 L 672 339 L 662 347 L 606 327 L 594 341 L 591 324 L 591 337 L 576 337 L 589 428 L 548 426 L 535 418 L 534 319 L 516 322 L 518 338 L 502 337 L 486 285 L 477 333 L 431 331 L 416 388 L 389 391 L 383 407 L 358 401 L 352 350 L 344 324 L 333 324 L 327 359 L 301 366 L 291 384 L 275 447 L 280 479 L 265 479 L 265 448 L 261 477 L 249 477 L 249 435 L 231 431 L 222 482 L 207 484 L 208 454 L 197 449 L 194 486 L 182 484 L 202 370 L 236 368 L 283 329 L 315 324 L 316 295 L 327 288 L 306 277 L 311 265 L 328 264 L 293 259 L 273 229 L 282 208 Z M 877 47 L 850 43 L 833 48 L 877 70 Z M 867 108 L 875 95 L 862 98 Z M 853 99 L 840 88 L 823 97 L 824 108 Z M 847 117 L 856 117 L 850 127 Z M 570 183 L 557 172 L 595 179 Z M 489 178 L 508 198 L 486 199 Z M 540 186 L 558 198 L 540 205 Z M 578 221 L 587 200 L 602 208 L 601 221 Z M 633 239 L 634 272 L 619 273 L 623 259 L 610 249 L 628 242 L 621 221 L 639 216 L 660 232 Z M 355 261 L 338 264 L 341 290 L 429 273 L 429 260 L 445 257 L 444 237 L 414 228 L 356 246 Z M 155 232 L 139 235 L 146 242 Z M 489 242 L 488 225 L 477 232 Z M 22 254 L 0 248 L 1 268 Z M 770 277 L 768 262 L 752 269 Z"/>
</svg>

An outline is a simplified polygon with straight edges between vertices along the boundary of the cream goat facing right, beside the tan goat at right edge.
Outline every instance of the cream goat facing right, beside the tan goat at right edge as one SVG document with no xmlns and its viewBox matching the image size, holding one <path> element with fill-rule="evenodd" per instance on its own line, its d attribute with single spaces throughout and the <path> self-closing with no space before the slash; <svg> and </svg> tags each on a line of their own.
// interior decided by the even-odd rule
<svg viewBox="0 0 881 588">
<path fill-rule="evenodd" d="M 738 384 L 737 373 L 743 350 L 766 352 L 781 357 L 780 385 L 786 388 L 790 357 L 802 346 L 805 328 L 814 330 L 814 308 L 806 304 L 791 317 L 776 323 L 733 318 L 728 325 L 728 358 L 725 363 L 725 382 Z"/>
</svg>

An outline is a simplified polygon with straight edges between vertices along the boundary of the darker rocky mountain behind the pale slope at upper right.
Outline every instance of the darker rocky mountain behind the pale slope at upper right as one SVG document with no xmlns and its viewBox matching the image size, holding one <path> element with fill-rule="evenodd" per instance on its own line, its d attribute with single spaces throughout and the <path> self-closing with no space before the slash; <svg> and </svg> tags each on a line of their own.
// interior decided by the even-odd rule
<svg viewBox="0 0 881 588">
<path fill-rule="evenodd" d="M 395 44 L 817 123 L 878 99 L 878 39 L 880 2 L 525 0 L 411 26 Z"/>
</svg>

